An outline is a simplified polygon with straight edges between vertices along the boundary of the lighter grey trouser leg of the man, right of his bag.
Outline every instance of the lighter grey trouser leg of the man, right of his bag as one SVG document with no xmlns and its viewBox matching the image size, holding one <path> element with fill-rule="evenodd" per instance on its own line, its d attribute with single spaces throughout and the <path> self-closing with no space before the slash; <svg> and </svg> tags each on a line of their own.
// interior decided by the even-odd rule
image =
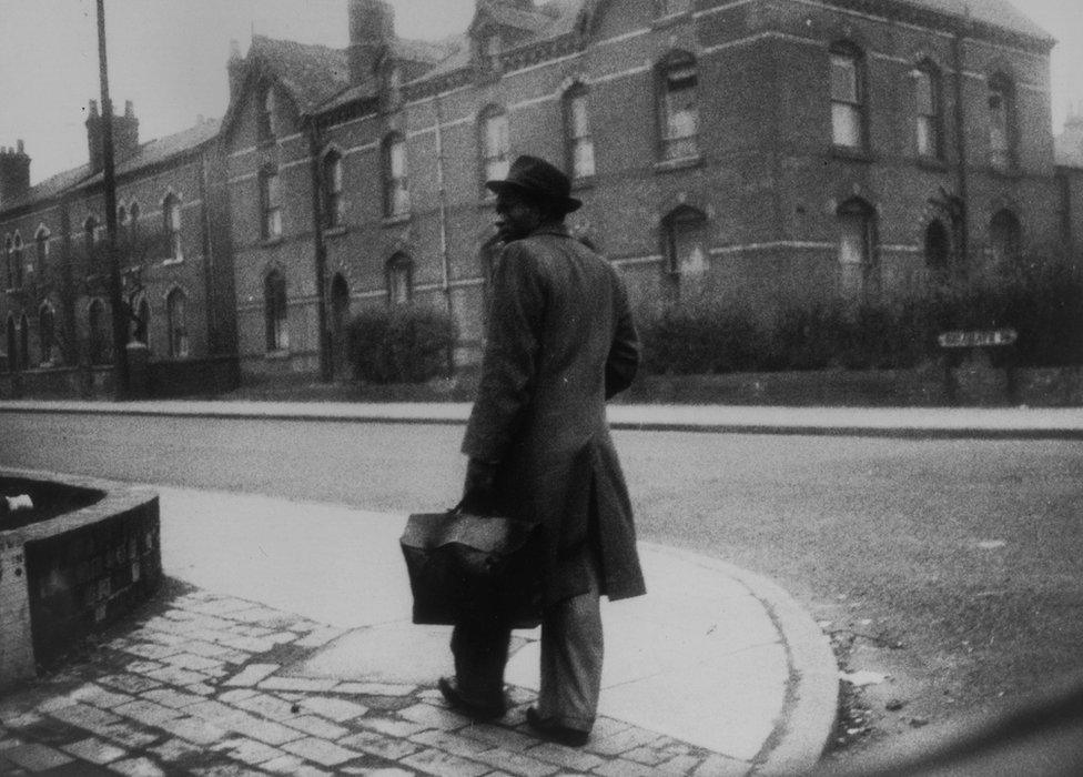
<svg viewBox="0 0 1083 777">
<path fill-rule="evenodd" d="M 590 591 L 546 609 L 542 620 L 542 688 L 538 717 L 589 731 L 601 690 L 601 607 L 597 563 Z"/>
</svg>

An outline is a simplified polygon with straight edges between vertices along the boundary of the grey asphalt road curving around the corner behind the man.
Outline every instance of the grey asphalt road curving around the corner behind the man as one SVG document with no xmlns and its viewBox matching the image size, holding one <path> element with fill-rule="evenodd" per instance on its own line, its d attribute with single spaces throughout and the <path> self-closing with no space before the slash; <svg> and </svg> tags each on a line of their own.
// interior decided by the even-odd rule
<svg viewBox="0 0 1083 777">
<path fill-rule="evenodd" d="M 0 413 L 0 465 L 416 512 L 455 502 L 460 436 Z M 1083 669 L 1083 443 L 615 437 L 644 538 L 773 577 L 848 668 L 890 675 L 859 700 L 859 745 Z"/>
</svg>

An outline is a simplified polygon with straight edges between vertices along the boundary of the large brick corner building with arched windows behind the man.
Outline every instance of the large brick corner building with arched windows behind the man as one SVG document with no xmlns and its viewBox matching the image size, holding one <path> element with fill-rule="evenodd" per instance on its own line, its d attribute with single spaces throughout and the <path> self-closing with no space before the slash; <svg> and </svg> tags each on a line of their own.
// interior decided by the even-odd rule
<svg viewBox="0 0 1083 777">
<path fill-rule="evenodd" d="M 647 301 L 903 294 L 1080 222 L 1054 41 L 1006 0 L 477 0 L 435 41 L 381 0 L 343 21 L 345 49 L 254 37 L 229 63 L 244 375 L 345 374 L 351 315 L 411 301 L 475 359 L 483 182 L 519 153 L 564 164 L 574 229 Z"/>
</svg>

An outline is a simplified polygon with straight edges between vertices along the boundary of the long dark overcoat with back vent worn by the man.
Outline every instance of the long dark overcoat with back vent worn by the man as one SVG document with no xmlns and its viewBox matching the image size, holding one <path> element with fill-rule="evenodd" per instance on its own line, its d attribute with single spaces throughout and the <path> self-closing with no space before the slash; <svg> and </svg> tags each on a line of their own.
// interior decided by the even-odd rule
<svg viewBox="0 0 1083 777">
<path fill-rule="evenodd" d="M 638 364 L 627 293 L 606 260 L 564 225 L 505 246 L 463 452 L 498 464 L 502 512 L 544 526 L 546 604 L 589 589 L 593 546 L 610 599 L 646 593 L 605 410 Z"/>
</svg>

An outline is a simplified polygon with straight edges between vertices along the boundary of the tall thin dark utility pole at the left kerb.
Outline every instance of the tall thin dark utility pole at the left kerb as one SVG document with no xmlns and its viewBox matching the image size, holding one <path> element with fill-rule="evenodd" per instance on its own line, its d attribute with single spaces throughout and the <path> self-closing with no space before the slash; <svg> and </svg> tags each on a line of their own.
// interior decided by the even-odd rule
<svg viewBox="0 0 1083 777">
<path fill-rule="evenodd" d="M 105 0 L 98 0 L 98 73 L 102 92 L 102 189 L 105 198 L 105 256 L 109 262 L 109 307 L 113 319 L 113 380 L 115 398 L 129 396 L 128 310 L 121 296 L 120 256 L 117 254 L 117 181 L 113 160 L 113 103 L 109 99 L 105 58 Z"/>
</svg>

